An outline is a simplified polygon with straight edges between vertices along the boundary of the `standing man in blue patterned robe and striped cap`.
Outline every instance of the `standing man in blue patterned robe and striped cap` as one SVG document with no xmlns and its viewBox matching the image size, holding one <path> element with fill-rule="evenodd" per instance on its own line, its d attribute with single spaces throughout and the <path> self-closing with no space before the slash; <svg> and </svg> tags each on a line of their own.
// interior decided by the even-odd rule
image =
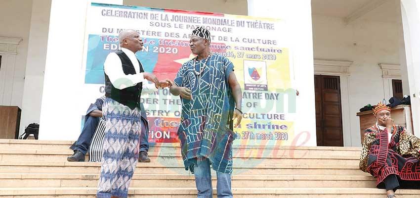
<svg viewBox="0 0 420 198">
<path fill-rule="evenodd" d="M 210 51 L 210 32 L 198 27 L 190 48 L 197 57 L 179 69 L 170 92 L 182 101 L 178 137 L 186 170 L 195 175 L 198 198 L 211 198 L 210 165 L 217 173 L 217 197 L 232 198 L 232 141 L 242 119 L 241 87 L 226 57 Z"/>
</svg>

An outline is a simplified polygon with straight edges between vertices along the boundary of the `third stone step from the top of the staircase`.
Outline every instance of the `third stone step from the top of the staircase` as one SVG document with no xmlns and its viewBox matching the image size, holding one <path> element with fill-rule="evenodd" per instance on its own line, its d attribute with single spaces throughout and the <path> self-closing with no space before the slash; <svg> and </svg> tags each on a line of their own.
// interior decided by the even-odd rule
<svg viewBox="0 0 420 198">
<path fill-rule="evenodd" d="M 0 173 L 99 174 L 99 162 L 0 162 Z M 188 174 L 180 163 L 137 163 L 135 173 Z M 234 174 L 274 175 L 369 175 L 358 165 L 234 164 Z"/>
</svg>

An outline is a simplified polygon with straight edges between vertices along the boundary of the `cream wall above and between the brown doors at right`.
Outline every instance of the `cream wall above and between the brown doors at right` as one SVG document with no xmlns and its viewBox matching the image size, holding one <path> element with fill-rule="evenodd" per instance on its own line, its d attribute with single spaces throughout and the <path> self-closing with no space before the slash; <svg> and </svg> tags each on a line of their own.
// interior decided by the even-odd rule
<svg viewBox="0 0 420 198">
<path fill-rule="evenodd" d="M 349 71 L 351 142 L 359 147 L 356 113 L 384 98 L 378 63 L 399 64 L 399 24 L 361 17 L 346 25 L 342 18 L 313 15 L 314 58 L 353 61 Z M 345 136 L 345 135 L 344 135 Z"/>
</svg>

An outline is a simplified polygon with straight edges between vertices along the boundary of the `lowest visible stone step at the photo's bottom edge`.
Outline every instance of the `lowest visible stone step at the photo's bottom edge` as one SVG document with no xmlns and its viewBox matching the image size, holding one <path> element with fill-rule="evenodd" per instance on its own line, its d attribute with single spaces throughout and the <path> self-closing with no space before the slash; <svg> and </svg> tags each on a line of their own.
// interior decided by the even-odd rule
<svg viewBox="0 0 420 198">
<path fill-rule="evenodd" d="M 232 192 L 235 198 L 384 198 L 386 194 L 376 188 L 232 188 Z M 95 193 L 91 187 L 0 188 L 2 198 L 94 198 Z M 195 188 L 130 188 L 128 194 L 130 198 L 197 198 Z M 396 195 L 419 198 L 420 190 L 398 190 Z"/>
</svg>

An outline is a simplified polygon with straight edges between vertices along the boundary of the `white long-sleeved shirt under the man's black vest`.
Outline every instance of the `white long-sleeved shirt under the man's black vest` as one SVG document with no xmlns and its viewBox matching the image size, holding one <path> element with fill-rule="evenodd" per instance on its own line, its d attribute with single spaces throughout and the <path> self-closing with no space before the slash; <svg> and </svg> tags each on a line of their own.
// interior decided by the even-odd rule
<svg viewBox="0 0 420 198">
<path fill-rule="evenodd" d="M 126 48 L 121 48 L 124 53 L 128 56 L 131 63 L 134 66 L 136 74 L 126 75 L 123 71 L 122 62 L 120 57 L 115 53 L 110 53 L 106 57 L 104 63 L 105 74 L 108 75 L 111 84 L 119 90 L 125 89 L 127 87 L 132 87 L 137 83 L 144 82 L 143 84 L 148 84 L 147 80 L 144 79 L 143 73 L 140 73 L 140 65 L 138 64 L 135 54 Z M 154 85 L 153 85 L 154 86 Z M 143 86 L 144 88 L 145 86 Z"/>
</svg>

